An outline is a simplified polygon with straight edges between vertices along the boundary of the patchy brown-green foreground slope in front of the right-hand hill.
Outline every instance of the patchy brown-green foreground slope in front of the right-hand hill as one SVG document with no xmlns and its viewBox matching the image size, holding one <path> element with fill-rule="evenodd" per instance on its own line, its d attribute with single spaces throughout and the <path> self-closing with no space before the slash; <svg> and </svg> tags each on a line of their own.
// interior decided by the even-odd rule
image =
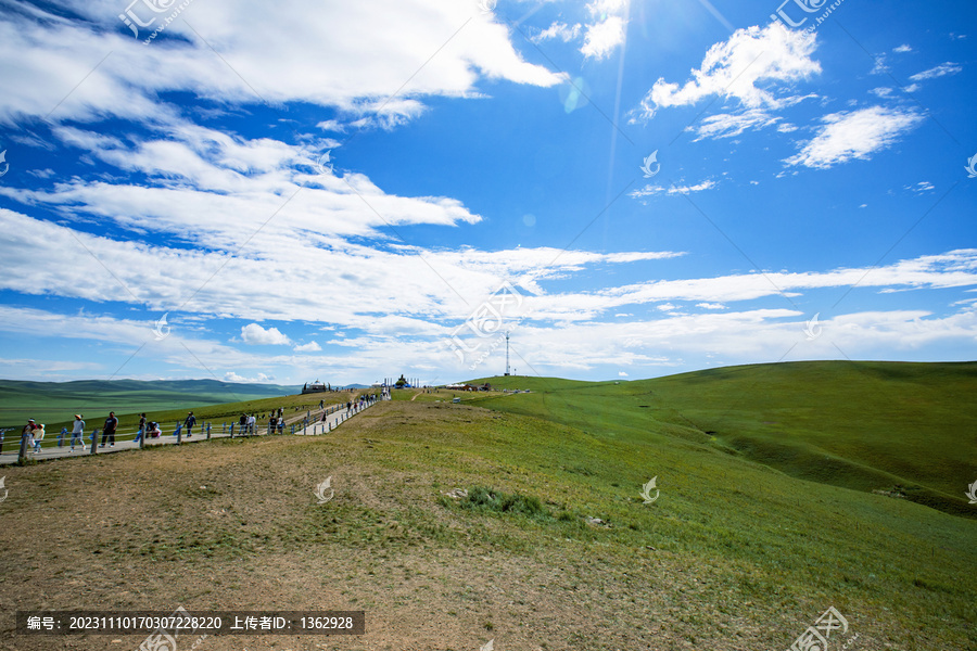
<svg viewBox="0 0 977 651">
<path fill-rule="evenodd" d="M 828 607 L 851 626 L 832 649 L 977 647 L 977 522 L 638 420 L 651 407 L 623 383 L 536 382 L 483 403 L 509 413 L 397 392 L 328 436 L 5 469 L 0 649 L 118 649 L 10 631 L 14 610 L 83 601 L 366 611 L 363 637 L 220 636 L 211 651 L 786 649 Z M 602 424 L 581 418 L 595 401 Z"/>
</svg>

